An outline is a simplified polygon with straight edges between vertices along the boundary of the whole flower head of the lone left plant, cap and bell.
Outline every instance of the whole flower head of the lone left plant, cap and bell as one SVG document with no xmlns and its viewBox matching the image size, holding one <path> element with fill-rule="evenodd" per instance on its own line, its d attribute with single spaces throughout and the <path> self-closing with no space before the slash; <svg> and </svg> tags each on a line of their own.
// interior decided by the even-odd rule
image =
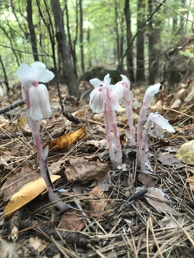
<svg viewBox="0 0 194 258">
<path fill-rule="evenodd" d="M 54 73 L 46 69 L 45 64 L 37 61 L 31 66 L 21 64 L 17 73 L 22 84 L 22 96 L 32 120 L 49 118 L 52 114 L 49 93 L 46 86 L 38 82 L 49 82 L 55 77 Z"/>
</svg>

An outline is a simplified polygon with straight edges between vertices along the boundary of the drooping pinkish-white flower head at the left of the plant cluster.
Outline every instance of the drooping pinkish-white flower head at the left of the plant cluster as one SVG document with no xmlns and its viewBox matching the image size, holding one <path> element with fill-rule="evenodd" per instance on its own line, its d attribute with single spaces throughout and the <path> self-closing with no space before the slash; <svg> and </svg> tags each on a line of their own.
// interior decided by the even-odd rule
<svg viewBox="0 0 194 258">
<path fill-rule="evenodd" d="M 90 83 L 94 86 L 94 90 L 90 93 L 89 106 L 94 113 L 101 113 L 104 111 L 105 103 L 107 111 L 120 108 L 117 91 L 115 86 L 110 85 L 111 78 L 109 73 L 101 81 L 97 78 L 90 80 Z M 119 89 L 118 89 L 119 91 Z"/>
</svg>

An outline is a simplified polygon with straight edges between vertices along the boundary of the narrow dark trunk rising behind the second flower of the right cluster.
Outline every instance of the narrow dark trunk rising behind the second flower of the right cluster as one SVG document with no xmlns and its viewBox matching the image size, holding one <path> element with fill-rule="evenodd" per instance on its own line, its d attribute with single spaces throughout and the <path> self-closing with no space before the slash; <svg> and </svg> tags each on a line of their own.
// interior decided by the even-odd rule
<svg viewBox="0 0 194 258">
<path fill-rule="evenodd" d="M 132 40 L 132 33 L 131 33 L 131 13 L 129 8 L 129 0 L 125 0 L 125 20 L 126 20 L 126 27 L 127 27 L 127 46 L 130 44 Z M 129 72 L 129 79 L 134 82 L 134 73 L 133 73 L 133 46 L 129 47 L 127 51 L 127 70 Z"/>
</svg>

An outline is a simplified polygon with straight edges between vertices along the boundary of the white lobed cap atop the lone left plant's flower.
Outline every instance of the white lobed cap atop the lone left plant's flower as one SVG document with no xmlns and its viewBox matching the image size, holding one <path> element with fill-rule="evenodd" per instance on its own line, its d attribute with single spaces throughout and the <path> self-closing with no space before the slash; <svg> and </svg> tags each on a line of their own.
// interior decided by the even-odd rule
<svg viewBox="0 0 194 258">
<path fill-rule="evenodd" d="M 21 83 L 28 87 L 34 81 L 46 83 L 55 77 L 54 73 L 48 70 L 45 64 L 38 61 L 34 62 L 31 66 L 21 64 L 17 73 Z"/>
</svg>

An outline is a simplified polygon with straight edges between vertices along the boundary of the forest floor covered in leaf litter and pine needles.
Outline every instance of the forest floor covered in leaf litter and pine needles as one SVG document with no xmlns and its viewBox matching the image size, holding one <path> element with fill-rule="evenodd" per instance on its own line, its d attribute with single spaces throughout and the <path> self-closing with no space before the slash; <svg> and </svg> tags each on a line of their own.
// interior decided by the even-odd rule
<svg viewBox="0 0 194 258">
<path fill-rule="evenodd" d="M 150 111 L 176 131 L 162 140 L 150 136 L 153 174 L 140 172 L 136 148 L 127 143 L 124 108 L 116 117 L 123 164 L 111 165 L 103 115 L 88 106 L 90 89 L 81 84 L 75 99 L 62 87 L 69 120 L 51 87 L 52 117 L 42 120 L 51 180 L 67 190 L 59 190 L 66 212 L 49 201 L 25 105 L 0 116 L 1 257 L 193 257 L 194 80 L 176 93 L 160 90 L 152 103 Z M 137 126 L 144 89 L 133 92 Z M 1 107 L 18 99 L 8 93 Z"/>
</svg>

